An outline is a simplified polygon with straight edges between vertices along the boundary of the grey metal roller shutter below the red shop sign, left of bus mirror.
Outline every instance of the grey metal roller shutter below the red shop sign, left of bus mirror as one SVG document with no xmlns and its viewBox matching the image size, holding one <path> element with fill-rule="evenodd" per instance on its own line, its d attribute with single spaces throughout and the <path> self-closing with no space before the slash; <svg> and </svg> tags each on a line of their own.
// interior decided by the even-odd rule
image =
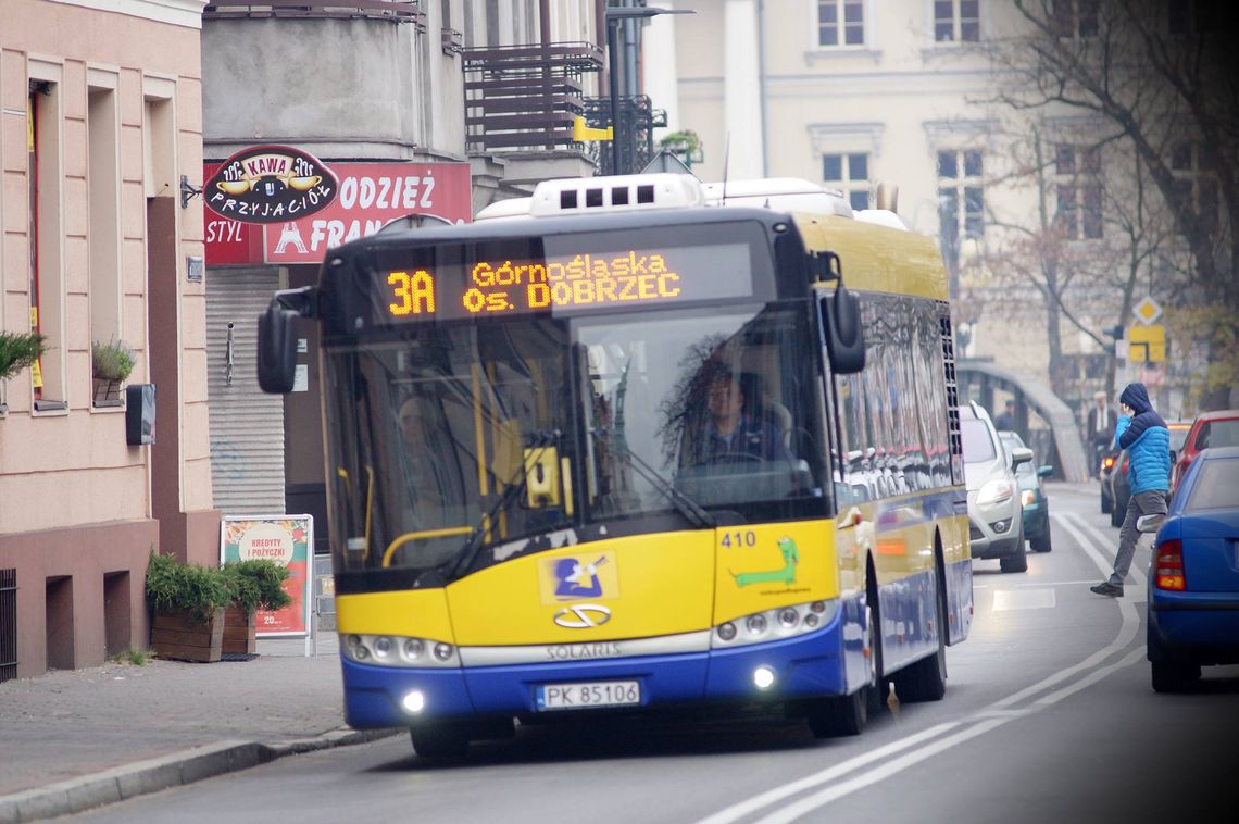
<svg viewBox="0 0 1239 824">
<path fill-rule="evenodd" d="M 258 387 L 258 316 L 279 289 L 279 269 L 213 269 L 207 275 L 207 397 L 211 482 L 224 515 L 284 512 L 284 397 Z M 228 380 L 228 323 L 233 368 Z"/>
</svg>

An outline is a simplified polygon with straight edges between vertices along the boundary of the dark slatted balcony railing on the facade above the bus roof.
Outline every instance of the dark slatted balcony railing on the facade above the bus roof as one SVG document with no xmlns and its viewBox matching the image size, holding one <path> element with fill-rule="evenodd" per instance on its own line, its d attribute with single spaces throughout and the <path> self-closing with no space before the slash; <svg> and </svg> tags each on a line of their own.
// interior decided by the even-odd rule
<svg viewBox="0 0 1239 824">
<path fill-rule="evenodd" d="M 581 77 L 602 68 L 593 43 L 466 48 L 465 123 L 481 151 L 581 149 L 572 120 L 585 114 Z"/>
</svg>

